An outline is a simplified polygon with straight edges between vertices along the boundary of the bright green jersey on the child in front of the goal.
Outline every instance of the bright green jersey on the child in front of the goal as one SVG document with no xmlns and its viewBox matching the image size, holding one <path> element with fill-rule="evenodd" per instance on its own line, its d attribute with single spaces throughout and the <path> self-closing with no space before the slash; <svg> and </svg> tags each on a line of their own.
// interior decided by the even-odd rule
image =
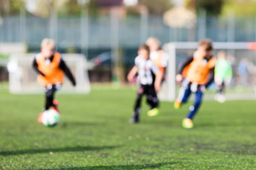
<svg viewBox="0 0 256 170">
<path fill-rule="evenodd" d="M 232 77 L 232 67 L 230 61 L 226 59 L 218 59 L 215 65 L 214 76 L 219 79 L 225 79 L 226 77 Z"/>
</svg>

